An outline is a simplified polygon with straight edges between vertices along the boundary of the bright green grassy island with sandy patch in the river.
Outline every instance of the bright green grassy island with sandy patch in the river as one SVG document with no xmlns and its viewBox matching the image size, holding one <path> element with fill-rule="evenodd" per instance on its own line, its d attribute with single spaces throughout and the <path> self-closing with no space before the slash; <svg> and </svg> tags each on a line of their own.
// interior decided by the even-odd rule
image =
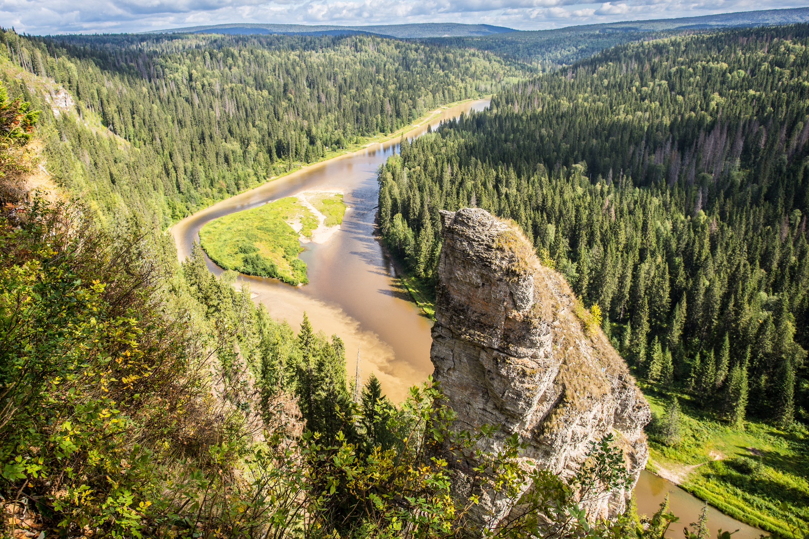
<svg viewBox="0 0 809 539">
<path fill-rule="evenodd" d="M 224 269 L 271 277 L 291 285 L 307 283 L 299 240 L 318 241 L 345 214 L 340 193 L 301 193 L 205 224 L 200 244 Z"/>
</svg>

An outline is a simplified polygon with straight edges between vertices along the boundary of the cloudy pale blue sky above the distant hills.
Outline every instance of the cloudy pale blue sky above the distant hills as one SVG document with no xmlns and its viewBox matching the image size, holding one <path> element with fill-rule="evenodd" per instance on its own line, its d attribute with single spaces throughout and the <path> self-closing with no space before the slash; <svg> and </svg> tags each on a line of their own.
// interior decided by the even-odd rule
<svg viewBox="0 0 809 539">
<path fill-rule="evenodd" d="M 223 23 L 451 22 L 544 30 L 807 5 L 809 0 L 0 0 L 0 26 L 35 35 Z"/>
</svg>

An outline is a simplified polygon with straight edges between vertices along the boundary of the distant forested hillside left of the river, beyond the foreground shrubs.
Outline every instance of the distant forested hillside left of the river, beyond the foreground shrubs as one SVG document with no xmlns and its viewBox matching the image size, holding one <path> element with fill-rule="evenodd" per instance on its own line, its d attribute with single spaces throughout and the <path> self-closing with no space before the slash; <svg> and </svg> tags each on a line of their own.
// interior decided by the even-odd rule
<svg viewBox="0 0 809 539">
<path fill-rule="evenodd" d="M 158 227 L 526 73 L 370 36 L 0 40 L 0 58 L 34 75 L 4 74 L 11 94 L 56 110 L 41 121 L 57 182 L 101 216 Z"/>
</svg>

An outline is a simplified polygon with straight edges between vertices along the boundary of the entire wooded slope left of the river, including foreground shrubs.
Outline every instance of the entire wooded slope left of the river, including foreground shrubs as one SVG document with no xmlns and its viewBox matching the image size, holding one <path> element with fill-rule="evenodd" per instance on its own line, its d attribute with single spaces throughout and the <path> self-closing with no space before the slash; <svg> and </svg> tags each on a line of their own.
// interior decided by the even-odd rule
<svg viewBox="0 0 809 539">
<path fill-rule="evenodd" d="M 0 36 L 0 536 L 452 539 L 480 533 L 472 493 L 529 484 L 525 514 L 553 530 L 492 537 L 654 539 L 674 520 L 583 518 L 628 481 L 611 436 L 568 486 L 515 437 L 477 452 L 493 430 L 452 432 L 438 384 L 397 406 L 371 375 L 352 398 L 340 337 L 306 315 L 296 336 L 155 230 L 524 72 L 365 37 Z M 48 171 L 67 202 L 25 189 Z M 447 460 L 468 455 L 496 473 L 456 492 Z"/>
</svg>

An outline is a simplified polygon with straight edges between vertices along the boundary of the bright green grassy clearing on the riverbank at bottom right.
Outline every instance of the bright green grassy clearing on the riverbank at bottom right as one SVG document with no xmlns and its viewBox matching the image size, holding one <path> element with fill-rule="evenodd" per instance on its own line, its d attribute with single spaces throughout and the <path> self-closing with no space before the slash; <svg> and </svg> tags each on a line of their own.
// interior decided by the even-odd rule
<svg viewBox="0 0 809 539">
<path fill-rule="evenodd" d="M 679 476 L 680 486 L 726 515 L 786 537 L 809 530 L 809 433 L 746 422 L 743 431 L 713 418 L 684 393 L 641 383 L 653 413 L 676 395 L 683 411 L 680 442 L 649 433 L 647 469 Z M 647 427 L 649 428 L 649 427 Z M 653 429 L 652 429 L 653 430 Z"/>
</svg>

